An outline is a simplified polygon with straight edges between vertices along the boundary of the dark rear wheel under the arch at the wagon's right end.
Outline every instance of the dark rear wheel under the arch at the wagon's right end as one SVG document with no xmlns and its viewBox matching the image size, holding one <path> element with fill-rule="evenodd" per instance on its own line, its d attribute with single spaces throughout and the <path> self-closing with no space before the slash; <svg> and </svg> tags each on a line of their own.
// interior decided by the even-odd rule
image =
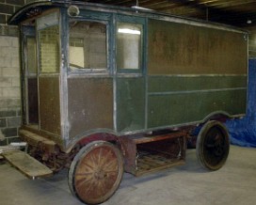
<svg viewBox="0 0 256 205">
<path fill-rule="evenodd" d="M 197 157 L 201 166 L 217 170 L 224 166 L 230 151 L 229 134 L 219 121 L 209 121 L 197 139 Z"/>
</svg>

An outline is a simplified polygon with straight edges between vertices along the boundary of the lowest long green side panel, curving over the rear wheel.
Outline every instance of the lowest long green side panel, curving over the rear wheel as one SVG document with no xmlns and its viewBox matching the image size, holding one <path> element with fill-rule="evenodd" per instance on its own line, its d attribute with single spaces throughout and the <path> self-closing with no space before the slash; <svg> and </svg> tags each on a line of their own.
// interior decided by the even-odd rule
<svg viewBox="0 0 256 205">
<path fill-rule="evenodd" d="M 246 89 L 150 95 L 148 127 L 200 121 L 220 111 L 245 114 L 246 99 Z"/>
</svg>

